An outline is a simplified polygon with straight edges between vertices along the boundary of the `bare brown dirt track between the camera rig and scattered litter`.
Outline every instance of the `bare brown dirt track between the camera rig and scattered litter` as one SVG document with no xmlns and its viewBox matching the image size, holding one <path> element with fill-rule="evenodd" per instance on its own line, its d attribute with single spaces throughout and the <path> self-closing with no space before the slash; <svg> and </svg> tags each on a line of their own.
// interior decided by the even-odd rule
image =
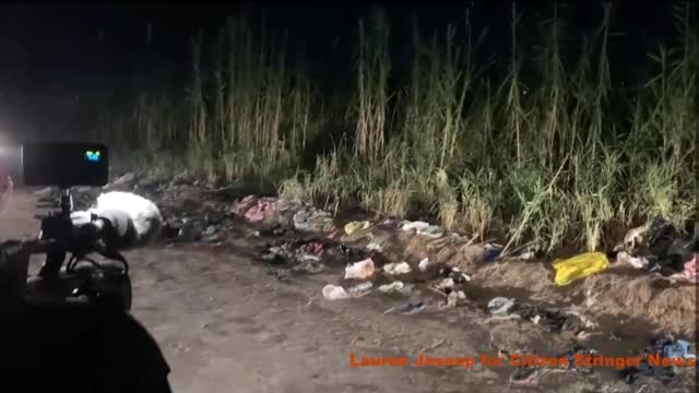
<svg viewBox="0 0 699 393">
<path fill-rule="evenodd" d="M 0 216 L 0 238 L 35 236 L 34 213 L 33 194 L 16 194 Z M 407 356 L 412 361 L 420 353 L 497 357 L 501 348 L 554 356 L 570 346 L 571 337 L 522 321 L 490 321 L 479 307 L 428 308 L 404 315 L 384 314 L 405 302 L 407 298 L 399 295 L 330 301 L 321 288 L 337 282 L 340 267 L 279 281 L 254 260 L 256 241 L 248 235 L 240 228 L 238 236 L 217 248 L 163 246 L 127 254 L 133 314 L 159 343 L 173 369 L 175 392 L 636 391 L 612 368 L 547 372 L 523 385 L 509 382 L 514 368 L 507 362 L 470 369 L 352 367 L 353 354 L 357 359 Z M 33 269 L 39 263 L 33 261 Z"/>
</svg>

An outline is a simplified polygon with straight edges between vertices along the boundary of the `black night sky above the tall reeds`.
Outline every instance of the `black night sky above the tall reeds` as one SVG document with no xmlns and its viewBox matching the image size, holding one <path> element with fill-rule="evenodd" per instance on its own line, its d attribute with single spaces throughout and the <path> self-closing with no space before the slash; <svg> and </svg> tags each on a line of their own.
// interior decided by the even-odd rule
<svg viewBox="0 0 699 393">
<path fill-rule="evenodd" d="M 418 15 L 425 27 L 463 24 L 471 7 L 477 31 L 489 27 L 485 57 L 506 59 L 509 50 L 507 2 L 439 2 L 410 7 L 400 2 L 386 5 L 392 25 L 395 68 L 410 67 L 410 16 Z M 550 3 L 526 2 L 525 22 L 536 25 L 550 15 Z M 12 132 L 46 132 L 36 119 L 55 120 L 56 127 L 69 121 L 82 92 L 112 90 L 144 68 L 189 72 L 190 39 L 203 28 L 215 32 L 227 15 L 246 9 L 264 12 L 271 29 L 288 31 L 293 45 L 303 45 L 305 58 L 329 76 L 346 68 L 356 45 L 357 19 L 367 15 L 364 2 L 157 2 L 157 3 L 27 3 L 0 4 L 0 127 Z M 570 35 L 590 29 L 599 22 L 597 3 L 569 5 Z M 659 17 L 659 15 L 667 17 Z M 147 26 L 152 26 L 149 44 Z M 672 19 L 662 2 L 637 7 L 626 2 L 617 11 L 615 28 L 626 33 L 615 38 L 614 56 L 623 72 L 638 63 L 647 51 L 668 39 Z M 526 35 L 526 28 L 523 28 Z M 533 28 L 530 27 L 533 31 Z M 616 44 L 615 44 L 616 45 Z M 644 49 L 645 48 L 645 49 Z M 500 61 L 500 66 L 506 61 Z M 625 66 L 628 64 L 628 66 Z M 312 67 L 312 66 L 311 66 Z M 334 75 L 332 75 L 334 78 Z M 71 104 L 72 103 L 72 104 Z M 72 106 L 71 106 L 72 105 Z M 67 109 L 73 108 L 73 109 Z M 22 130 L 22 131 L 20 131 Z M 0 131 L 2 132 L 2 131 Z M 8 131 L 4 131 L 8 132 Z"/>
</svg>

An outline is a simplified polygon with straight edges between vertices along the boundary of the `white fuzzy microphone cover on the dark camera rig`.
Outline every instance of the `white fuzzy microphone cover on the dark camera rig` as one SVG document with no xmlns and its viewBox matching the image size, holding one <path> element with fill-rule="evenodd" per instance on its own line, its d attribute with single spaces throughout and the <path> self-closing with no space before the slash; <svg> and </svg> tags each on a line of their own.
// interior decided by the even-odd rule
<svg viewBox="0 0 699 393">
<path fill-rule="evenodd" d="M 120 248 L 149 243 L 157 238 L 164 227 L 161 210 L 155 203 L 132 192 L 103 193 L 90 211 L 112 222 Z"/>
</svg>

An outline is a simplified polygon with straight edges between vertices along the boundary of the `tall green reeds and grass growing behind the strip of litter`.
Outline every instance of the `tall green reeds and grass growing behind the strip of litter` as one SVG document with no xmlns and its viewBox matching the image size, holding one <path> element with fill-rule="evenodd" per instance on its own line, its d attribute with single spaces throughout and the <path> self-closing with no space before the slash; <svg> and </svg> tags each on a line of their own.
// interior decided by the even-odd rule
<svg viewBox="0 0 699 393">
<path fill-rule="evenodd" d="M 542 26 L 535 53 L 518 46 L 513 7 L 500 80 L 473 60 L 483 36 L 469 21 L 431 39 L 416 27 L 412 76 L 399 87 L 390 83 L 390 26 L 372 15 L 357 25 L 355 90 L 341 96 L 319 91 L 298 61 L 289 66 L 283 36 L 235 19 L 213 39 L 213 61 L 202 59 L 202 36 L 192 39 L 186 95 L 141 94 L 131 117 L 108 119 L 99 132 L 163 170 L 246 177 L 395 216 L 422 212 L 483 240 L 505 236 L 509 247 L 599 249 L 614 228 L 648 216 L 684 226 L 697 194 L 696 10 L 674 5 L 680 43 L 649 53 L 653 79 L 621 88 L 611 80 L 604 7 L 572 60 L 561 55 L 558 17 Z M 538 79 L 525 85 L 528 62 Z M 305 165 L 335 124 L 343 138 Z"/>
</svg>

